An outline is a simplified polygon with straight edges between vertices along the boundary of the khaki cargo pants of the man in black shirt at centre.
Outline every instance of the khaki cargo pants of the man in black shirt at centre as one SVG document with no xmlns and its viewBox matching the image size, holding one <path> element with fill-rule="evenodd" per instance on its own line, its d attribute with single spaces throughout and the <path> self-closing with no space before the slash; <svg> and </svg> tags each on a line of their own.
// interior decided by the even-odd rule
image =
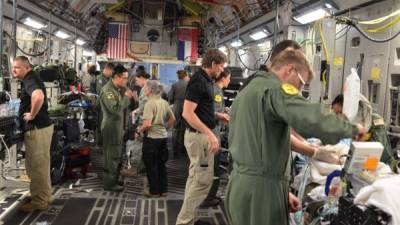
<svg viewBox="0 0 400 225">
<path fill-rule="evenodd" d="M 186 130 L 185 147 L 190 159 L 189 177 L 177 225 L 194 224 L 197 209 L 206 199 L 214 177 L 214 154 L 208 151 L 207 136 Z M 201 167 L 201 164 L 208 166 Z"/>
</svg>

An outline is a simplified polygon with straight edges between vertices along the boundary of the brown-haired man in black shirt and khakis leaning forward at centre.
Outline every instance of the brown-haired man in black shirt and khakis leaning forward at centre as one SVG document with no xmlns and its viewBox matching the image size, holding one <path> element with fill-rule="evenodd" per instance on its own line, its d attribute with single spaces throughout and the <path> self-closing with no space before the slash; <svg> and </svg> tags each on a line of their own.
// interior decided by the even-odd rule
<svg viewBox="0 0 400 225">
<path fill-rule="evenodd" d="M 226 55 L 218 49 L 208 49 L 203 55 L 202 68 L 190 79 L 182 116 L 186 121 L 185 147 L 190 159 L 189 177 L 186 181 L 185 198 L 176 220 L 177 225 L 195 223 L 200 204 L 206 199 L 214 178 L 214 154 L 219 141 L 213 129 L 215 119 L 229 122 L 225 116 L 217 116 L 214 109 L 213 78 L 224 71 Z"/>
</svg>

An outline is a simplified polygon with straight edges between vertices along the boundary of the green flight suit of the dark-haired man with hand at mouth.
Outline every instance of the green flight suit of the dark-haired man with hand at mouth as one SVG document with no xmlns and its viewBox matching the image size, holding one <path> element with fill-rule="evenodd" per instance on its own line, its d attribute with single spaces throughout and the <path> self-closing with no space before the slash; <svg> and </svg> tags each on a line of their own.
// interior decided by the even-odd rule
<svg viewBox="0 0 400 225">
<path fill-rule="evenodd" d="M 119 176 L 122 144 L 124 109 L 129 105 L 129 98 L 108 81 L 100 94 L 100 106 L 103 113 L 101 134 L 104 154 L 104 188 L 116 185 Z"/>
</svg>

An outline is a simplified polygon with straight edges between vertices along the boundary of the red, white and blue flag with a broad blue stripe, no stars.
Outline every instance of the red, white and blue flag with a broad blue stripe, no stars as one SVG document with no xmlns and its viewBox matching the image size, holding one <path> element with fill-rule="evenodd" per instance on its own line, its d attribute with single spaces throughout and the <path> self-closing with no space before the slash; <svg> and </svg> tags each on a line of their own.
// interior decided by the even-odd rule
<svg viewBox="0 0 400 225">
<path fill-rule="evenodd" d="M 177 32 L 178 37 L 178 60 L 186 60 L 190 58 L 191 62 L 195 62 L 198 58 L 197 42 L 198 42 L 198 28 L 179 28 Z"/>
</svg>

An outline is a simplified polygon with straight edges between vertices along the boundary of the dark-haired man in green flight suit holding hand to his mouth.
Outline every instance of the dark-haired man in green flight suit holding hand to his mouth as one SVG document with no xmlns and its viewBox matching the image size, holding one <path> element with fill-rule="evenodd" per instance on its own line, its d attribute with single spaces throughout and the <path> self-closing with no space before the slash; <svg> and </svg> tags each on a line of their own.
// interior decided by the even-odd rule
<svg viewBox="0 0 400 225">
<path fill-rule="evenodd" d="M 123 147 L 123 112 L 133 97 L 126 89 L 128 71 L 122 65 L 114 68 L 112 79 L 104 85 L 100 93 L 103 113 L 101 134 L 103 138 L 104 177 L 103 187 L 108 191 L 122 191 L 118 184 Z"/>
</svg>

